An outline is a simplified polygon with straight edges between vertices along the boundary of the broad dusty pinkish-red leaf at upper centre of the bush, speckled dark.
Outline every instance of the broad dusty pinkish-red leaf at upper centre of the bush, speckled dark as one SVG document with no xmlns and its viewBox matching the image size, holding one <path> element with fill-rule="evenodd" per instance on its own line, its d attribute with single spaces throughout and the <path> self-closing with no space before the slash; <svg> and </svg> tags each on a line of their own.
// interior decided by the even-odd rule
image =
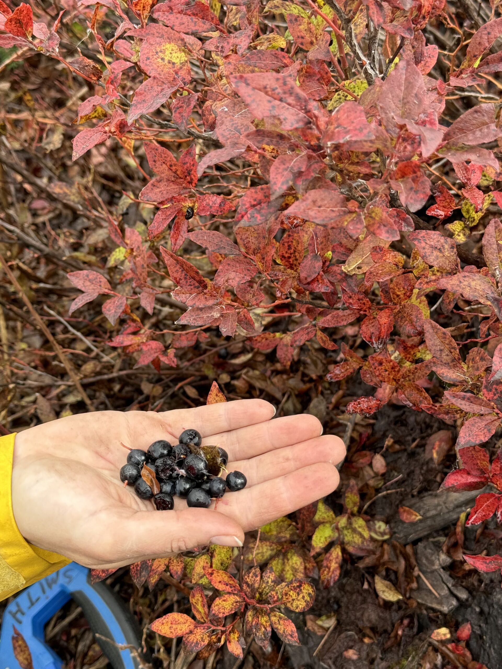
<svg viewBox="0 0 502 669">
<path fill-rule="evenodd" d="M 256 118 L 280 118 L 283 130 L 311 123 L 311 102 L 290 74 L 236 74 L 230 81 Z"/>
</svg>

